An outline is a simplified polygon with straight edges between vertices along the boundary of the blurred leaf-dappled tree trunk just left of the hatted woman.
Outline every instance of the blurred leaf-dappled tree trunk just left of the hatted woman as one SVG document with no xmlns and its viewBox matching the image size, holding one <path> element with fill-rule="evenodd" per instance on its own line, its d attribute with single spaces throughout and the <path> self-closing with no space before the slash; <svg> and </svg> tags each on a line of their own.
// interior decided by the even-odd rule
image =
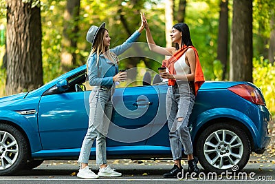
<svg viewBox="0 0 275 184">
<path fill-rule="evenodd" d="M 61 64 L 65 71 L 72 70 L 76 66 L 79 10 L 80 0 L 67 0 L 61 52 Z"/>
</svg>

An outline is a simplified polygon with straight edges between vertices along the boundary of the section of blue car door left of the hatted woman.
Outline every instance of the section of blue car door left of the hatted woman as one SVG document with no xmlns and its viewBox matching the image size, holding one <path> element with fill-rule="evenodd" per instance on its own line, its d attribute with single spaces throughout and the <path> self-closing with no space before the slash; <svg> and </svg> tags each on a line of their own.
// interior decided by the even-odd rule
<svg viewBox="0 0 275 184">
<path fill-rule="evenodd" d="M 88 126 L 89 91 L 76 92 L 74 85 L 83 80 L 81 72 L 69 79 L 67 91 L 41 97 L 38 124 L 43 150 L 81 147 Z"/>
</svg>

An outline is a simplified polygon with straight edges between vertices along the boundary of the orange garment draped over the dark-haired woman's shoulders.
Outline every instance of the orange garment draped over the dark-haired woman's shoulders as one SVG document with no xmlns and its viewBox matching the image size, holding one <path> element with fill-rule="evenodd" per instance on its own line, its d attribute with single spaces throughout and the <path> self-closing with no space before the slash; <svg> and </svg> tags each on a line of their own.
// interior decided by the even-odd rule
<svg viewBox="0 0 275 184">
<path fill-rule="evenodd" d="M 184 45 L 183 48 L 180 50 L 177 50 L 172 57 L 168 60 L 162 61 L 162 66 L 168 68 L 170 74 L 176 74 L 176 70 L 174 68 L 175 62 L 186 52 L 188 48 L 192 48 L 192 50 L 195 51 L 195 57 L 196 57 L 196 68 L 195 68 L 195 80 L 194 80 L 194 85 L 195 85 L 195 96 L 197 95 L 197 91 L 201 87 L 201 85 L 204 83 L 204 76 L 203 76 L 203 71 L 201 68 L 201 63 L 199 63 L 199 54 L 197 53 L 197 50 L 193 46 L 186 46 Z M 175 85 L 176 80 L 175 79 L 168 79 L 168 85 Z"/>
</svg>

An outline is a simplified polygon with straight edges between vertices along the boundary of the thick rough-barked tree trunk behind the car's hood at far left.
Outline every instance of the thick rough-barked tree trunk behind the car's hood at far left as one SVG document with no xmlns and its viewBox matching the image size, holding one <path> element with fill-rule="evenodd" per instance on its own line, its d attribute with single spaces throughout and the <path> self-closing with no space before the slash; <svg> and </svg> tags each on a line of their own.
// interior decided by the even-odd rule
<svg viewBox="0 0 275 184">
<path fill-rule="evenodd" d="M 18 0 L 7 4 L 6 94 L 43 85 L 41 14 L 39 5 Z"/>
</svg>

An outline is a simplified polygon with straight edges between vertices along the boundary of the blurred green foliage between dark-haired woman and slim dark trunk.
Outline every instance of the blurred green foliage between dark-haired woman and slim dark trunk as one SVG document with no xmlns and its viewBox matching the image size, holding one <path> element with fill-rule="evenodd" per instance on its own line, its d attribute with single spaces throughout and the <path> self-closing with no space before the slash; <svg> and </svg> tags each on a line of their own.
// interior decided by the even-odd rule
<svg viewBox="0 0 275 184">
<path fill-rule="evenodd" d="M 199 60 L 206 80 L 218 79 L 214 74 L 214 61 L 217 58 L 219 3 L 215 2 L 193 0 L 188 1 L 186 7 L 185 21 L 190 28 L 192 43 L 199 52 Z"/>
</svg>

